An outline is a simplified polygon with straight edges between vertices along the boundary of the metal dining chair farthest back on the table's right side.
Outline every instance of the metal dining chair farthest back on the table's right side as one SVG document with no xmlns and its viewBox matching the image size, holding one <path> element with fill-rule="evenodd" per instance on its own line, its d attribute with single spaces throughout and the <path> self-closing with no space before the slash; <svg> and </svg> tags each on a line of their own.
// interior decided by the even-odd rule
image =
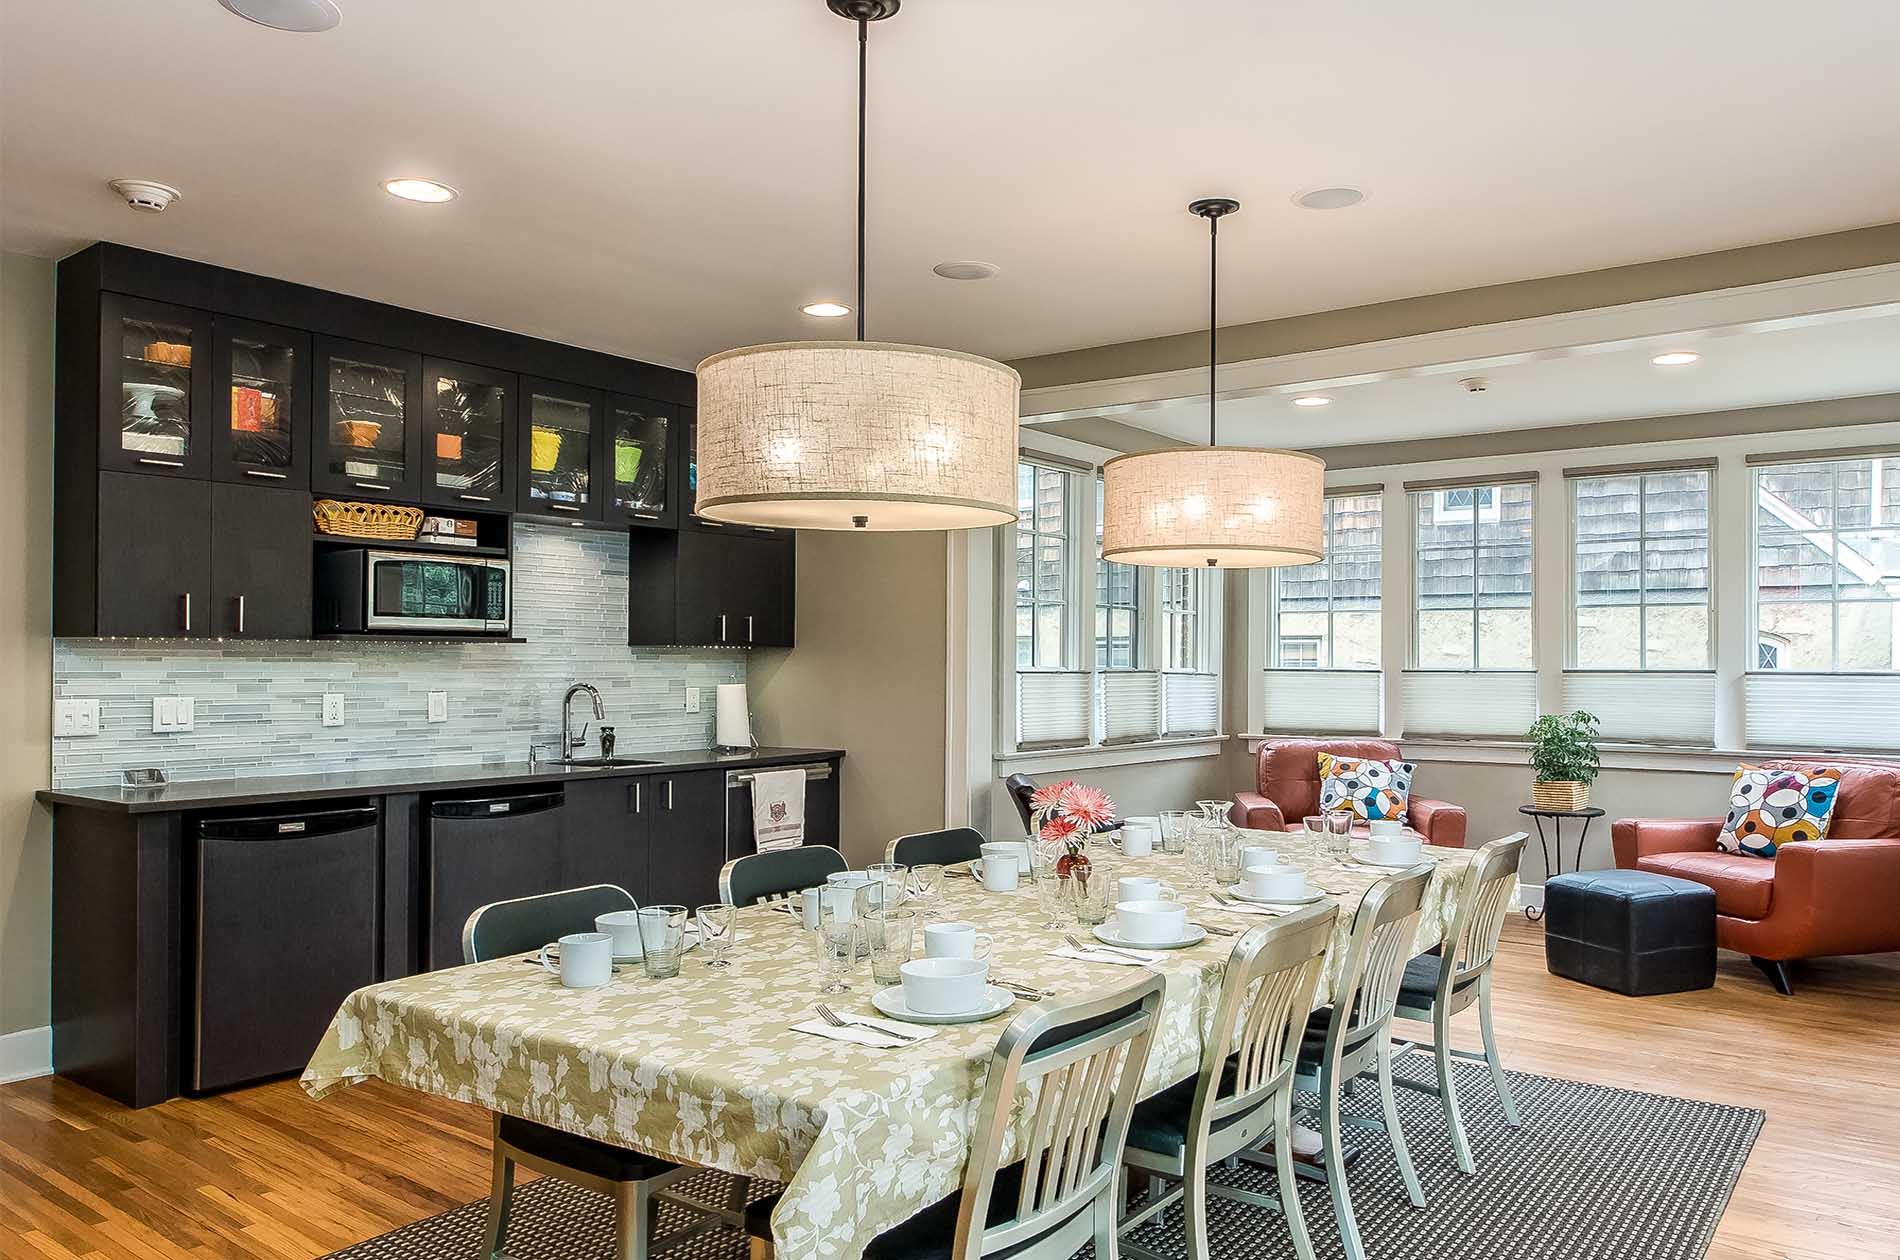
<svg viewBox="0 0 1900 1260">
<path fill-rule="evenodd" d="M 1471 861 L 1471 872 L 1457 899 L 1457 916 L 1446 945 L 1433 954 L 1419 954 L 1406 964 L 1398 981 L 1398 1019 L 1414 1019 L 1433 1026 L 1431 1041 L 1404 1041 L 1395 1053 L 1429 1049 L 1438 1064 L 1438 1083 L 1398 1078 L 1398 1085 L 1438 1097 L 1444 1125 L 1452 1131 L 1452 1154 L 1457 1171 L 1467 1176 L 1478 1171 L 1471 1159 L 1465 1121 L 1457 1114 L 1457 1089 L 1452 1081 L 1452 1059 L 1482 1059 L 1492 1070 L 1492 1087 L 1505 1112 L 1505 1123 L 1518 1129 L 1518 1104 L 1505 1079 L 1505 1064 L 1497 1057 L 1497 1034 L 1492 1030 L 1492 964 L 1497 960 L 1497 941 L 1510 912 L 1510 893 L 1518 886 L 1518 863 L 1530 836 L 1516 832 L 1492 840 Z M 1452 1017 L 1478 1007 L 1478 1030 L 1484 1034 L 1484 1053 L 1452 1047 Z"/>
</svg>

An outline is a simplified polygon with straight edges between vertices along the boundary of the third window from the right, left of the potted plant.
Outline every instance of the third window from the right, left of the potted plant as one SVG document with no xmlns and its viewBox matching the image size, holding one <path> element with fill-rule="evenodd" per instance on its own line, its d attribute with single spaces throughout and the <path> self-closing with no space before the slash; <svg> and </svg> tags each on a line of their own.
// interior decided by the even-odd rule
<svg viewBox="0 0 1900 1260">
<path fill-rule="evenodd" d="M 1522 735 L 1537 716 L 1535 479 L 1406 490 L 1414 530 L 1406 734 Z"/>
</svg>

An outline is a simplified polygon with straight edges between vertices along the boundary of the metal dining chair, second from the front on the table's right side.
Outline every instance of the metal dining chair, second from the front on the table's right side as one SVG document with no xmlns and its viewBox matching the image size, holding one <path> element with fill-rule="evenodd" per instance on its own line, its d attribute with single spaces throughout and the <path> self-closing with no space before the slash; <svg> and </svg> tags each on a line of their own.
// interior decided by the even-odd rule
<svg viewBox="0 0 1900 1260">
<path fill-rule="evenodd" d="M 1338 918 L 1340 908 L 1326 901 L 1235 941 L 1199 1074 L 1134 1108 L 1123 1163 L 1176 1186 L 1123 1218 L 1123 1233 L 1180 1201 L 1188 1260 L 1210 1260 L 1206 1197 L 1212 1193 L 1284 1212 L 1294 1254 L 1313 1260 L 1292 1155 L 1294 1070 Z M 1262 1136 L 1273 1138 L 1279 1199 L 1208 1184 L 1210 1167 L 1239 1155 Z M 1127 1239 L 1121 1249 L 1161 1260 Z"/>
</svg>

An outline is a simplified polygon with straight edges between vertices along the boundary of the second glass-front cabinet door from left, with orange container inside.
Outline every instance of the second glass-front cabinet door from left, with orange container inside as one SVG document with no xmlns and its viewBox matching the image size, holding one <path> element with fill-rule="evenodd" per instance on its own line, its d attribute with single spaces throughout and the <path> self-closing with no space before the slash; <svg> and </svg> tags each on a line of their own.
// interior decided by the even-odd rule
<svg viewBox="0 0 1900 1260">
<path fill-rule="evenodd" d="M 308 488 L 310 334 L 218 315 L 211 378 L 211 475 Z"/>
</svg>

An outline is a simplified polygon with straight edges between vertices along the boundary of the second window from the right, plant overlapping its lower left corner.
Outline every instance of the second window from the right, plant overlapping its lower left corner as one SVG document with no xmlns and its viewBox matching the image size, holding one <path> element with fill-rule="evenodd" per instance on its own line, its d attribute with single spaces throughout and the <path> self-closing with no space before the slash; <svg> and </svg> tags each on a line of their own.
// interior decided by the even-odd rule
<svg viewBox="0 0 1900 1260">
<path fill-rule="evenodd" d="M 1564 707 L 1609 739 L 1714 743 L 1712 466 L 1568 469 Z"/>
</svg>

